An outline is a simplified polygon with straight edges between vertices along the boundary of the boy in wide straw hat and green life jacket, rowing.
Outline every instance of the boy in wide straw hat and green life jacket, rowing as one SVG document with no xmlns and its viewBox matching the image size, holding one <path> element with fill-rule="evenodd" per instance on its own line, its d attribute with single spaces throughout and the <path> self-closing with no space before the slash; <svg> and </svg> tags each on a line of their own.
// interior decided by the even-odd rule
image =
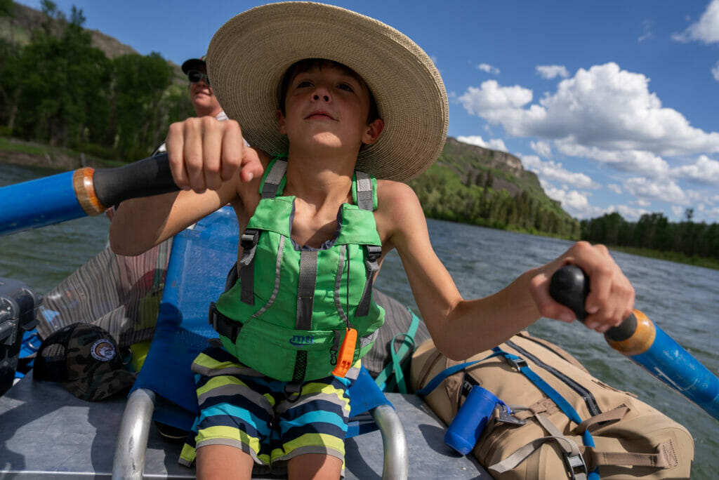
<svg viewBox="0 0 719 480">
<path fill-rule="evenodd" d="M 365 294 L 393 248 L 436 346 L 452 359 L 495 346 L 540 316 L 573 320 L 549 296 L 551 274 L 566 263 L 590 275 L 587 326 L 605 331 L 631 311 L 628 280 L 605 247 L 585 242 L 495 295 L 462 299 L 431 247 L 416 195 L 398 181 L 439 154 L 446 93 L 429 57 L 395 29 L 334 6 L 270 4 L 229 20 L 208 58 L 220 103 L 242 131 L 234 120 L 173 124 L 168 154 L 183 191 L 124 202 L 111 227 L 116 251 L 139 254 L 229 202 L 245 232 L 242 268 L 231 270 L 239 282 L 214 307 L 223 346 L 193 364 L 201 414 L 182 461 L 193 461 L 196 449 L 198 478 L 249 478 L 253 463 L 283 462 L 290 478 L 341 475 L 352 361 L 383 321 Z M 243 148 L 243 134 L 254 149 Z M 273 159 L 282 154 L 286 163 Z M 359 171 L 384 180 L 375 188 Z M 355 238 L 345 243 L 345 235 Z M 367 270 L 348 272 L 357 249 L 344 255 L 353 244 L 381 244 L 381 255 L 359 250 Z M 334 267 L 319 259 L 327 251 L 336 253 Z M 275 269 L 278 276 L 267 277 Z M 291 335 L 329 322 L 333 310 L 323 341 L 313 343 L 324 335 L 314 330 L 304 337 L 312 346 L 267 340 L 278 331 L 273 322 L 284 321 Z M 351 341 L 355 327 L 359 346 Z M 334 341 L 332 331 L 340 333 Z M 349 371 L 333 369 L 342 362 L 340 341 L 349 347 Z M 246 348 L 262 354 L 248 356 Z M 317 351 L 324 360 L 312 360 Z M 266 376 L 275 369 L 279 375 Z M 312 369 L 316 375 L 303 378 Z M 311 381 L 298 385 L 298 378 Z"/>
</svg>

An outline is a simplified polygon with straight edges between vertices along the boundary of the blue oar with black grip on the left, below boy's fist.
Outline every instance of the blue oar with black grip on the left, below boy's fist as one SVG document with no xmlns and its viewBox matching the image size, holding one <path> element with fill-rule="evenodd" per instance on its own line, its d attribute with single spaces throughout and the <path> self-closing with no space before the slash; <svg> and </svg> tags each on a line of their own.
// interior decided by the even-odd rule
<svg viewBox="0 0 719 480">
<path fill-rule="evenodd" d="M 167 154 L 116 168 L 84 167 L 0 188 L 0 236 L 99 215 L 134 197 L 178 190 Z"/>
</svg>

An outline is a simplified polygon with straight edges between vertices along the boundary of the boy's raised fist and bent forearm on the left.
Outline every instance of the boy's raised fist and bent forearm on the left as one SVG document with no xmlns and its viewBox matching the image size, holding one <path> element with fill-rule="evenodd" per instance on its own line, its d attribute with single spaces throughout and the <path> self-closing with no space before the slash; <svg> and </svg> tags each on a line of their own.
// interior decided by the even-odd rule
<svg viewBox="0 0 719 480">
<path fill-rule="evenodd" d="M 244 190 L 252 189 L 247 184 L 262 175 L 236 121 L 187 119 L 170 126 L 166 143 L 173 179 L 183 190 L 122 202 L 110 225 L 117 254 L 141 254 L 227 203 L 237 211 Z"/>
</svg>

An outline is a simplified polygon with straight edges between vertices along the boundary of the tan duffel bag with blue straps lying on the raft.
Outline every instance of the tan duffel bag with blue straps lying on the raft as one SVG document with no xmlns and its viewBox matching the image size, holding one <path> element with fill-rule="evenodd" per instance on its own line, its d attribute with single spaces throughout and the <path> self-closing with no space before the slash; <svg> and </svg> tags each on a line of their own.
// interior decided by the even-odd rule
<svg viewBox="0 0 719 480">
<path fill-rule="evenodd" d="M 510 407 L 512 415 L 495 408 L 472 450 L 495 479 L 690 478 L 694 440 L 682 425 L 592 377 L 553 343 L 522 332 L 498 350 L 462 366 L 430 340 L 413 354 L 410 375 L 415 391 L 444 377 L 423 397 L 447 425 L 475 385 Z"/>
</svg>

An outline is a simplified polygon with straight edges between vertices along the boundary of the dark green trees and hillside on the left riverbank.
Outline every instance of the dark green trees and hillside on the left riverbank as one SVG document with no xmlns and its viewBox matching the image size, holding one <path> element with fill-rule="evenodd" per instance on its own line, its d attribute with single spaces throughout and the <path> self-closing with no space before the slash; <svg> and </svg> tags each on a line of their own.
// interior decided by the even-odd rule
<svg viewBox="0 0 719 480">
<path fill-rule="evenodd" d="M 130 161 L 147 157 L 171 121 L 193 114 L 186 82 L 175 82 L 176 65 L 159 54 L 83 29 L 75 8 L 68 17 L 45 0 L 42 14 L 32 12 L 0 0 L 0 134 Z"/>
</svg>

